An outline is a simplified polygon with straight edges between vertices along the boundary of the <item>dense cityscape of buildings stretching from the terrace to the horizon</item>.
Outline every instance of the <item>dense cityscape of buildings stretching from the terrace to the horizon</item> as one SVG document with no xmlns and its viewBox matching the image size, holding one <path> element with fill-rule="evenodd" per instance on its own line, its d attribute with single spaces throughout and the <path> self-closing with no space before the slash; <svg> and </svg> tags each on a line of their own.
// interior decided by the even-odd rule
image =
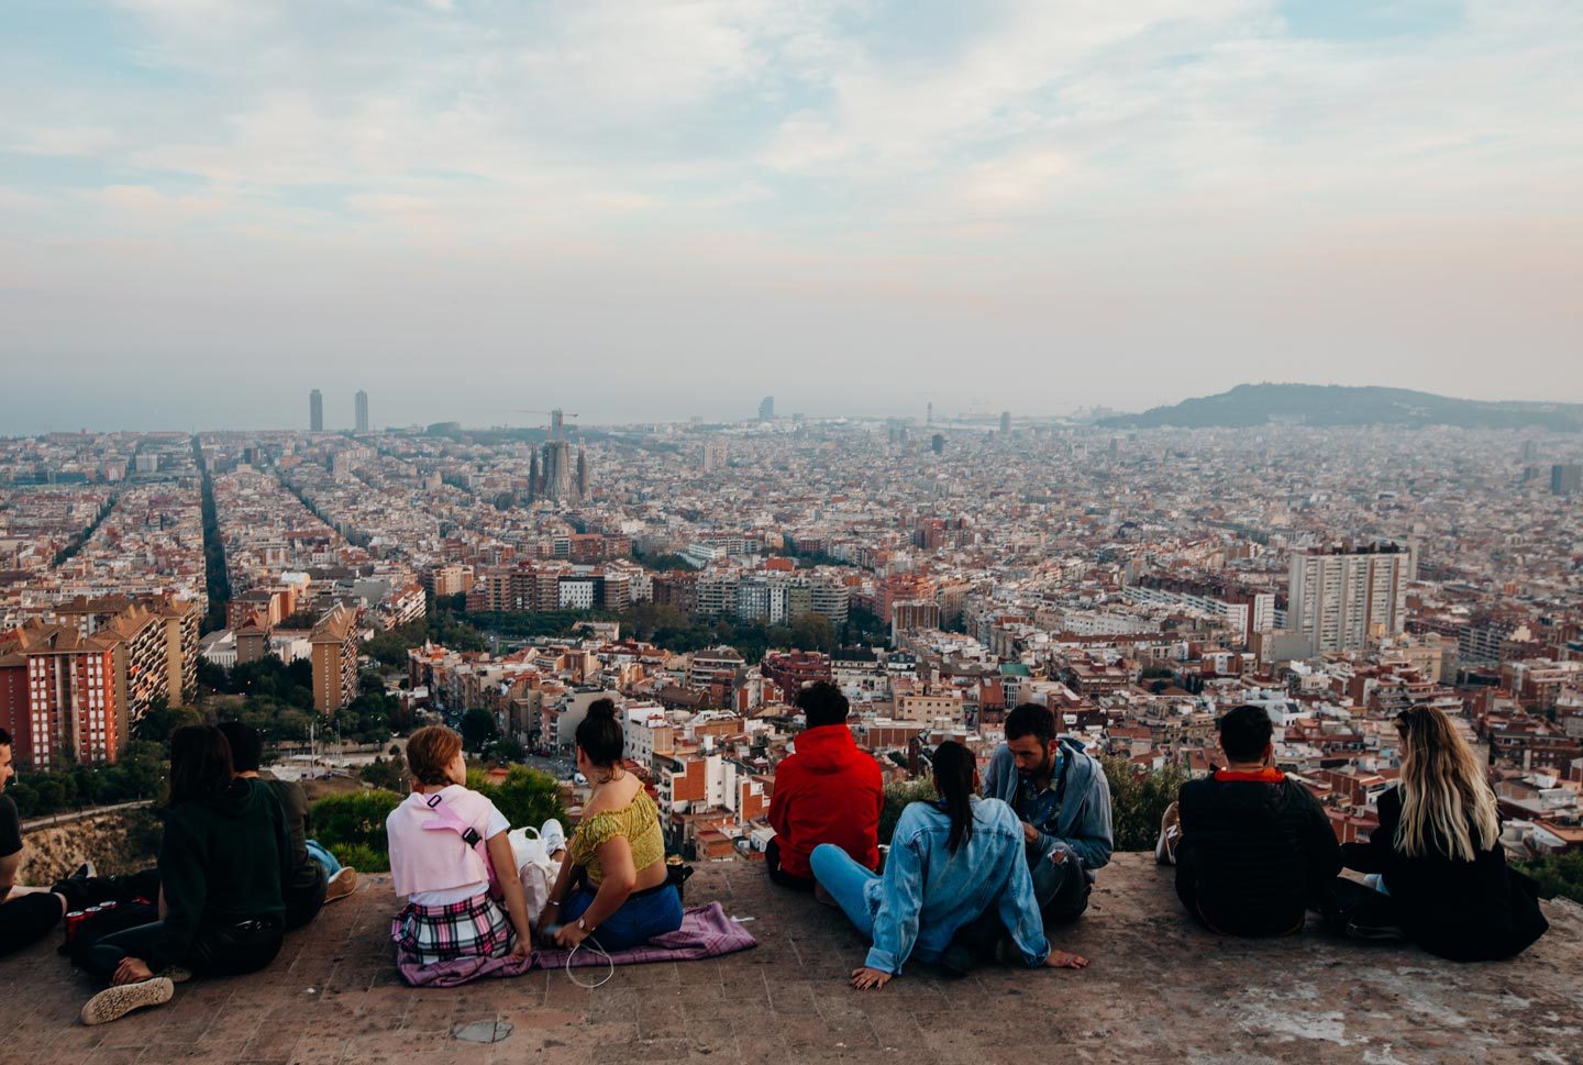
<svg viewBox="0 0 1583 1065">
<path fill-rule="evenodd" d="M 752 858 L 823 679 L 888 783 L 943 737 L 986 760 L 1019 703 L 1111 772 L 1201 774 L 1216 709 L 1263 706 L 1342 842 L 1396 780 L 1391 718 L 1436 706 L 1488 758 L 1513 858 L 1583 847 L 1575 435 L 323 410 L 0 442 L 0 726 L 27 779 L 114 764 L 266 660 L 312 673 L 312 712 L 264 704 L 280 750 L 437 715 L 497 764 L 565 767 L 611 696 L 673 845 Z"/>
</svg>

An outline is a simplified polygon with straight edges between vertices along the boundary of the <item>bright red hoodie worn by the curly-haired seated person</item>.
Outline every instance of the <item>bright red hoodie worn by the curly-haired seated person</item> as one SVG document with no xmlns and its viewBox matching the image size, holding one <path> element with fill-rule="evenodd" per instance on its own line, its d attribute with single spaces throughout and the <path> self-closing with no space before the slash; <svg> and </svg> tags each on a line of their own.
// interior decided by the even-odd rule
<svg viewBox="0 0 1583 1065">
<path fill-rule="evenodd" d="M 796 737 L 796 753 L 776 766 L 769 826 L 780 843 L 780 869 L 812 877 L 807 856 L 834 843 L 869 869 L 880 864 L 880 766 L 858 750 L 845 725 L 820 725 Z"/>
</svg>

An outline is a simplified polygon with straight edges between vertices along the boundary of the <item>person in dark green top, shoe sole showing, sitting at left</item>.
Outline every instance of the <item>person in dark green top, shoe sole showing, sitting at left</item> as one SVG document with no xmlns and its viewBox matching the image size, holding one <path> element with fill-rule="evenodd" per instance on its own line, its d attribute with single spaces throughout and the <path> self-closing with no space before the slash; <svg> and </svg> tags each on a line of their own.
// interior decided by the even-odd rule
<svg viewBox="0 0 1583 1065">
<path fill-rule="evenodd" d="M 82 965 L 111 986 L 84 1024 L 169 1002 L 173 980 L 263 968 L 285 935 L 290 839 L 280 804 L 231 772 L 231 747 L 209 725 L 171 734 L 171 796 L 160 843 L 163 918 L 93 943 Z"/>
</svg>

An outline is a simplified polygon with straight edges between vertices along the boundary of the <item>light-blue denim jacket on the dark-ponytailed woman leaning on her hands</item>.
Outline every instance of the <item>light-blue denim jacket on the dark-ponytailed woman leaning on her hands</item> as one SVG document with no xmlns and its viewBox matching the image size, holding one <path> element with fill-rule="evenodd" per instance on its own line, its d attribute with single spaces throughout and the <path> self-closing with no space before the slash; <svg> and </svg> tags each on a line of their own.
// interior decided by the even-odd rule
<svg viewBox="0 0 1583 1065">
<path fill-rule="evenodd" d="M 913 802 L 891 837 L 885 875 L 871 880 L 874 948 L 866 965 L 901 975 L 902 962 L 936 962 L 959 927 L 991 907 L 1031 967 L 1043 965 L 1050 940 L 1023 859 L 1023 824 L 1005 802 L 974 799 L 974 832 L 951 855 L 951 818 L 932 802 Z"/>
</svg>

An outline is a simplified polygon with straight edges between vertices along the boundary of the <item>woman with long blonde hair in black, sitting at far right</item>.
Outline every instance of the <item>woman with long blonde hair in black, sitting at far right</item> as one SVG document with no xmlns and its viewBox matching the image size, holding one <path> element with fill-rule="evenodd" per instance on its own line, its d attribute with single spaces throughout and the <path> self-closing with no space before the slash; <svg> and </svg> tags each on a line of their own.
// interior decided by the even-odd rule
<svg viewBox="0 0 1583 1065">
<path fill-rule="evenodd" d="M 1401 782 L 1379 798 L 1369 842 L 1342 848 L 1349 869 L 1380 877 L 1380 894 L 1352 915 L 1353 929 L 1396 926 L 1452 961 L 1523 953 L 1550 926 L 1532 881 L 1505 864 L 1483 767 L 1434 707 L 1403 711 L 1396 733 Z"/>
</svg>

